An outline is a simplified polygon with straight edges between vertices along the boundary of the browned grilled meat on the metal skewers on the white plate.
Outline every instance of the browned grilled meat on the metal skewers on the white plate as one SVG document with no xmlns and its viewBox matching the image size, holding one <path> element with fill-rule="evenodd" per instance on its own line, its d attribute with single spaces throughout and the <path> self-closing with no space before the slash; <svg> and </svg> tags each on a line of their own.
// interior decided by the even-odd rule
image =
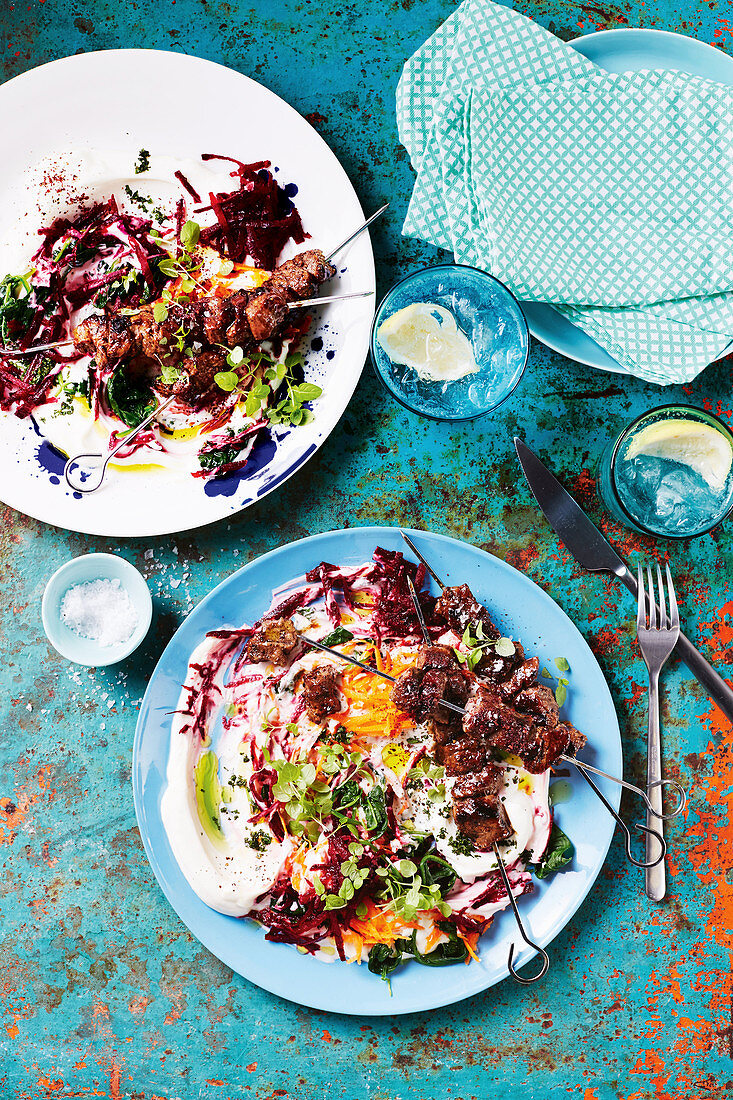
<svg viewBox="0 0 733 1100">
<path fill-rule="evenodd" d="M 162 394 L 204 406 L 220 396 L 214 376 L 227 370 L 227 349 L 239 345 L 247 354 L 278 336 L 288 302 L 313 297 L 335 271 L 322 252 L 311 249 L 277 267 L 256 290 L 174 301 L 162 321 L 155 320 L 153 305 L 131 316 L 110 311 L 88 317 L 74 330 L 74 343 L 94 356 L 102 372 L 124 363 L 133 376 L 152 382 Z M 179 377 L 162 382 L 163 367 L 177 370 Z"/>
</svg>

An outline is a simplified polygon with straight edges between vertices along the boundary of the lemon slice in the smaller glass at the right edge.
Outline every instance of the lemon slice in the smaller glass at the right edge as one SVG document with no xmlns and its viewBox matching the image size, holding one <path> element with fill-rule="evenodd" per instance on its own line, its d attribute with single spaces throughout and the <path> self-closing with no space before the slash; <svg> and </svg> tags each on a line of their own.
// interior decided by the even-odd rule
<svg viewBox="0 0 733 1100">
<path fill-rule="evenodd" d="M 724 487 L 733 465 L 733 448 L 725 436 L 699 420 L 658 420 L 642 428 L 625 458 L 631 461 L 639 454 L 690 466 L 715 492 Z"/>
</svg>

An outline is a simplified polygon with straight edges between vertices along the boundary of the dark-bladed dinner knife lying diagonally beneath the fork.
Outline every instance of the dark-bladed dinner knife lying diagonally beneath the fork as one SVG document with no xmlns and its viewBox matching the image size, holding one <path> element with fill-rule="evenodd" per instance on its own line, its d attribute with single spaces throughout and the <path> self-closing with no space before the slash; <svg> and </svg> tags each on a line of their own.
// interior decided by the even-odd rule
<svg viewBox="0 0 733 1100">
<path fill-rule="evenodd" d="M 517 436 L 514 447 L 529 488 L 548 524 L 576 561 L 591 573 L 612 573 L 636 600 L 636 578 L 627 563 L 599 531 L 577 501 L 550 473 L 545 463 Z M 733 724 L 733 689 L 715 672 L 689 638 L 680 634 L 675 653 L 702 684 L 713 702 Z"/>
</svg>

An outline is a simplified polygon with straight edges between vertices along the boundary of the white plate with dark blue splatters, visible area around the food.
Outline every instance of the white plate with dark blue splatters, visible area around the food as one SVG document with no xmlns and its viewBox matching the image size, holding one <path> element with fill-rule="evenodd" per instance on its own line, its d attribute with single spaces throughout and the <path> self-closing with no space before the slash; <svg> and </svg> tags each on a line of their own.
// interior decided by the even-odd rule
<svg viewBox="0 0 733 1100">
<path fill-rule="evenodd" d="M 245 162 L 269 160 L 281 183 L 298 188 L 295 201 L 310 233 L 302 248 L 328 252 L 364 220 L 343 168 L 292 107 L 249 77 L 198 57 L 156 50 L 65 57 L 0 87 L 0 118 L 6 262 L 10 246 L 18 252 L 18 242 L 7 241 L 13 195 L 33 165 L 61 151 L 114 148 L 129 153 L 131 172 L 142 147 L 185 158 L 218 153 Z M 32 233 L 41 228 L 33 209 L 28 221 Z M 332 293 L 374 290 L 365 233 L 337 260 L 340 274 L 329 284 Z M 0 277 L 4 274 L 0 271 Z M 262 446 L 241 479 L 204 482 L 189 474 L 111 470 L 99 492 L 75 497 L 64 483 L 63 457 L 44 444 L 30 420 L 0 414 L 0 499 L 58 527 L 114 538 L 185 530 L 239 512 L 295 473 L 338 422 L 366 359 L 373 309 L 373 298 L 364 298 L 316 315 L 303 345 L 316 338 L 324 343 L 307 356 L 306 376 L 324 386 L 315 418 L 276 446 Z"/>
</svg>

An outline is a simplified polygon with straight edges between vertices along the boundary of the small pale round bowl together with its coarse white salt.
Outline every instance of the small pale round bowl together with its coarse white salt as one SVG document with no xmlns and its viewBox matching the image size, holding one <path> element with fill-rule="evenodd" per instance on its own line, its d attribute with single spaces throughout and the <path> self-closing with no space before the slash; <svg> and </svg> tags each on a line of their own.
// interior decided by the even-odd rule
<svg viewBox="0 0 733 1100">
<path fill-rule="evenodd" d="M 43 594 L 41 617 L 52 646 L 88 668 L 116 664 L 150 628 L 153 602 L 134 565 L 109 553 L 73 558 Z"/>
</svg>

